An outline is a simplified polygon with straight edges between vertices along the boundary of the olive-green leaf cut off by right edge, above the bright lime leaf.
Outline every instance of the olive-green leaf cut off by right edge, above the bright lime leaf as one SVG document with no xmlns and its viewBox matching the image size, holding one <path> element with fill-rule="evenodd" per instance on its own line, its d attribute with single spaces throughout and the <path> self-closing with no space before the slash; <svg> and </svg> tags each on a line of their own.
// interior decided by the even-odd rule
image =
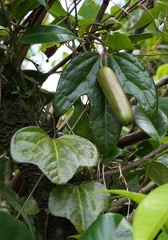
<svg viewBox="0 0 168 240">
<path fill-rule="evenodd" d="M 168 154 L 163 154 L 151 164 L 148 177 L 157 185 L 168 183 Z"/>
</svg>

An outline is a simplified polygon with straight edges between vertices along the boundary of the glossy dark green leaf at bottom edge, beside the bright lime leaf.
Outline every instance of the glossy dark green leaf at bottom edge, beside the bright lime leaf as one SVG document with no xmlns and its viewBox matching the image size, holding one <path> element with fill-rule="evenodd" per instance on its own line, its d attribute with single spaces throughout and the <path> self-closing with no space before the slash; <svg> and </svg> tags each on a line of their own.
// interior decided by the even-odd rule
<svg viewBox="0 0 168 240">
<path fill-rule="evenodd" d="M 117 213 L 99 216 L 80 240 L 133 240 L 131 223 Z"/>
</svg>

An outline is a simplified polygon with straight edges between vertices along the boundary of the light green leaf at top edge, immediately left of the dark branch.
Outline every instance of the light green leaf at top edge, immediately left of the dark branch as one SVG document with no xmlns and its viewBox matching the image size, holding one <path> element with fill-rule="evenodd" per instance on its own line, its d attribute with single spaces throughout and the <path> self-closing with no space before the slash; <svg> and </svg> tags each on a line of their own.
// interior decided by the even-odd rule
<svg viewBox="0 0 168 240">
<path fill-rule="evenodd" d="M 100 9 L 100 6 L 95 1 L 85 0 L 78 11 L 78 15 L 88 20 L 95 19 L 99 9 Z"/>
</svg>

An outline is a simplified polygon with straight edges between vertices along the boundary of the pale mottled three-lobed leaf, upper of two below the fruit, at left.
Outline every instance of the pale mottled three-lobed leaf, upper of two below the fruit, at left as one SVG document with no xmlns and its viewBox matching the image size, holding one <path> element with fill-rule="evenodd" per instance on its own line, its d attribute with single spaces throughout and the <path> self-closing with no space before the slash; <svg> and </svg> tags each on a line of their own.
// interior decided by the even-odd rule
<svg viewBox="0 0 168 240">
<path fill-rule="evenodd" d="M 76 135 L 51 139 L 38 127 L 17 131 L 11 140 L 11 156 L 17 162 L 37 165 L 53 183 L 66 183 L 79 167 L 98 163 L 98 152 L 88 140 Z"/>
</svg>

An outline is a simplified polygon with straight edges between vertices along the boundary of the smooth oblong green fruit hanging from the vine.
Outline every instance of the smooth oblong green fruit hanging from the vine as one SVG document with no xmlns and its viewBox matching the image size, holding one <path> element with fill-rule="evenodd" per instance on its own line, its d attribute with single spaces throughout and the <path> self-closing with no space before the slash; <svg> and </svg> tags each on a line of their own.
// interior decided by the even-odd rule
<svg viewBox="0 0 168 240">
<path fill-rule="evenodd" d="M 131 124 L 134 119 L 132 108 L 113 70 L 101 67 L 97 79 L 116 119 L 124 126 Z"/>
</svg>

